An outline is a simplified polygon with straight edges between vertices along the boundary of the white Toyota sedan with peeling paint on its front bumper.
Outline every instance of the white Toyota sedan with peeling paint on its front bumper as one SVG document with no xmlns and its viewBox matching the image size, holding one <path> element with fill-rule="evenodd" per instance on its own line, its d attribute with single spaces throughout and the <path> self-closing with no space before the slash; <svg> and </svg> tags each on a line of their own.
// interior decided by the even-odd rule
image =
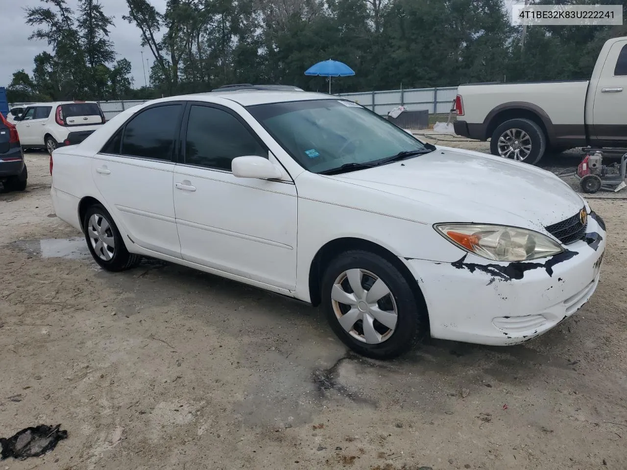
<svg viewBox="0 0 627 470">
<path fill-rule="evenodd" d="M 320 304 L 374 358 L 424 335 L 537 337 L 593 295 L 606 245 L 553 174 L 424 144 L 318 93 L 154 100 L 50 165 L 56 215 L 102 268 L 149 256 Z"/>
</svg>

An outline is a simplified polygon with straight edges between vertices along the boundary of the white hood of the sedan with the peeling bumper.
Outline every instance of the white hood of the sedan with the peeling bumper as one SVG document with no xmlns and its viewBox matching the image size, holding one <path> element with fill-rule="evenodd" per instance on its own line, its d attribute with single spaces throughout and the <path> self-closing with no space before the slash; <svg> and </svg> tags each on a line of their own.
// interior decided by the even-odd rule
<svg viewBox="0 0 627 470">
<path fill-rule="evenodd" d="M 545 227 L 577 214 L 583 199 L 556 175 L 468 150 L 437 147 L 426 155 L 337 175 L 420 202 L 427 220 Z M 431 220 L 429 220 L 431 219 Z"/>
</svg>

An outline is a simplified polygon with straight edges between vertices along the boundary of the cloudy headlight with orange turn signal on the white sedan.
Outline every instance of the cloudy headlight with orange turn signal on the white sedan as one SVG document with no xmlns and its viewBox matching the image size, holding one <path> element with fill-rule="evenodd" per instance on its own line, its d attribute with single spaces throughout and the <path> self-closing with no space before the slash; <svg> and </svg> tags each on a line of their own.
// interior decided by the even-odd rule
<svg viewBox="0 0 627 470">
<path fill-rule="evenodd" d="M 517 227 L 437 224 L 435 228 L 460 248 L 493 261 L 528 261 L 564 251 L 546 235 Z"/>
</svg>

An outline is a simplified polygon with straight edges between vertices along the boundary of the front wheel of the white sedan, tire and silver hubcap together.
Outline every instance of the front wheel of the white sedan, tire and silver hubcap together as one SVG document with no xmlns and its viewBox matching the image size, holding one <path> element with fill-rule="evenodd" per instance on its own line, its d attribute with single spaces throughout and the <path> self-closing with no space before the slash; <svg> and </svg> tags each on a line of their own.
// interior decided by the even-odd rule
<svg viewBox="0 0 627 470">
<path fill-rule="evenodd" d="M 322 303 L 335 334 L 366 357 L 396 357 L 426 333 L 426 311 L 403 274 L 368 251 L 348 251 L 330 263 Z"/>
</svg>

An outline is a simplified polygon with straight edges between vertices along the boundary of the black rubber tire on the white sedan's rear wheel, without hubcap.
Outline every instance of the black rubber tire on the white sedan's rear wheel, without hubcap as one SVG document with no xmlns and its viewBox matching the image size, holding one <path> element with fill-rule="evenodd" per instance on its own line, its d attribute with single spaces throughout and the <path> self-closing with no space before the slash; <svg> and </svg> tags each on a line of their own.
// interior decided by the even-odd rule
<svg viewBox="0 0 627 470">
<path fill-rule="evenodd" d="M 110 259 L 100 258 L 96 249 L 92 244 L 92 238 L 90 237 L 90 219 L 92 216 L 102 217 L 107 222 L 108 236 L 113 238 L 113 254 L 110 254 Z M 90 253 L 92 253 L 93 259 L 96 263 L 100 264 L 103 269 L 112 272 L 125 271 L 126 269 L 134 268 L 139 264 L 142 257 L 139 254 L 129 253 L 126 249 L 126 245 L 124 244 L 124 239 L 122 239 L 122 235 L 118 230 L 115 222 L 113 222 L 113 217 L 108 213 L 107 209 L 105 209 L 101 204 L 94 204 L 87 209 L 85 212 L 85 217 L 83 218 L 83 231 L 85 232 L 85 241 L 87 241 L 87 248 L 89 248 Z M 101 248 L 100 253 L 103 253 L 103 250 L 106 248 Z"/>
</svg>

